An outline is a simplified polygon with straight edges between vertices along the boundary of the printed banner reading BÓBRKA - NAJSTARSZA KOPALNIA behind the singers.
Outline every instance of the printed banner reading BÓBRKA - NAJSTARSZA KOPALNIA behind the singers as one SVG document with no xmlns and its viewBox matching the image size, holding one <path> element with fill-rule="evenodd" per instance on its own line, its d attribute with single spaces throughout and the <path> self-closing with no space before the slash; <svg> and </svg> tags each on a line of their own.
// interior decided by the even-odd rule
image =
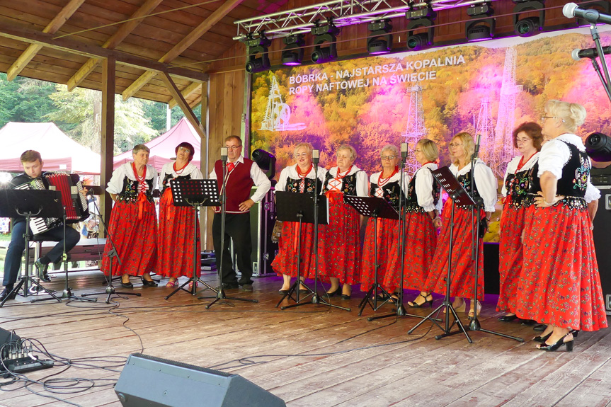
<svg viewBox="0 0 611 407">
<path fill-rule="evenodd" d="M 607 25 L 599 28 L 611 45 Z M 413 145 L 437 142 L 448 164 L 453 134 L 481 134 L 481 158 L 502 177 L 516 154 L 513 129 L 537 121 L 544 103 L 560 99 L 586 107 L 578 134 L 609 134 L 610 101 L 590 60 L 571 51 L 594 47 L 587 28 L 532 38 L 506 38 L 365 57 L 327 64 L 282 67 L 253 75 L 251 151 L 277 157 L 278 172 L 293 164 L 293 147 L 310 142 L 321 165 L 335 165 L 336 148 L 350 144 L 355 165 L 380 171 L 380 149 L 408 142 L 409 172 L 417 168 Z M 611 58 L 607 59 L 611 63 Z"/>
</svg>

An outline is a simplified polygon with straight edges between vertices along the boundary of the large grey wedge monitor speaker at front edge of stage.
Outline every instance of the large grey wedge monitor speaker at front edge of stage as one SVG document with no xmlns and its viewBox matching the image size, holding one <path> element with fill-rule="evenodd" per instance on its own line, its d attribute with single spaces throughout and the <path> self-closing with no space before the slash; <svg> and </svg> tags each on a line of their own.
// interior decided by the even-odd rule
<svg viewBox="0 0 611 407">
<path fill-rule="evenodd" d="M 124 407 L 285 407 L 240 377 L 141 353 L 127 358 L 115 385 Z"/>
</svg>

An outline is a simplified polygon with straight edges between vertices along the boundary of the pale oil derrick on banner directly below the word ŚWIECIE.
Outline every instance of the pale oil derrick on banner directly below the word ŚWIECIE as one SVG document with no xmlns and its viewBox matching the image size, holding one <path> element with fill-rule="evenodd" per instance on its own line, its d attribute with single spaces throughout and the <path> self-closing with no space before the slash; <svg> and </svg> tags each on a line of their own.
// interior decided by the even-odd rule
<svg viewBox="0 0 611 407">
<path fill-rule="evenodd" d="M 422 107 L 422 86 L 412 86 L 406 91 L 409 92 L 407 126 L 405 132 L 401 133 L 401 142 L 407 143 L 405 170 L 413 176 L 413 173 L 420 168 L 420 164 L 416 161 L 416 143 L 426 136 L 426 127 L 424 127 L 424 109 Z"/>
</svg>

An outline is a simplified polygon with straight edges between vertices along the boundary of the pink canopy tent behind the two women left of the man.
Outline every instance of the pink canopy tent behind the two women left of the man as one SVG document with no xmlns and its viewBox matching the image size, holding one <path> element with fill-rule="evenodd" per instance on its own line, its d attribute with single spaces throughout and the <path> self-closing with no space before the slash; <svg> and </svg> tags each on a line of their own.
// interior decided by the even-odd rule
<svg viewBox="0 0 611 407">
<path fill-rule="evenodd" d="M 171 162 L 172 158 L 176 158 L 176 146 L 182 142 L 188 142 L 193 145 L 195 155 L 193 156 L 191 164 L 199 168 L 201 139 L 185 117 L 178 120 L 178 123 L 165 134 L 161 134 L 161 136 L 144 144 L 151 149 L 149 164 L 154 166 L 157 171 L 161 171 L 161 167 L 163 167 L 164 164 Z M 133 161 L 132 151 L 125 151 L 125 153 L 115 156 L 113 159 L 113 168 L 116 169 L 120 165 L 130 161 Z"/>
</svg>

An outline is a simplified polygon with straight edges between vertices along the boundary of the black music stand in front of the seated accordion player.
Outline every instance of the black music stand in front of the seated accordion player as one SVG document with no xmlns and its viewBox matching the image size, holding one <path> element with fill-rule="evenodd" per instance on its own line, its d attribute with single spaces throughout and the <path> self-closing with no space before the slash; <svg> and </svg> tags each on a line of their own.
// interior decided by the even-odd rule
<svg viewBox="0 0 611 407">
<path fill-rule="evenodd" d="M 40 282 L 30 276 L 30 218 L 31 217 L 62 217 L 62 194 L 52 190 L 4 190 L 0 193 L 0 217 L 25 217 L 25 275 L 13 287 L 0 306 L 23 287 L 23 297 L 28 297 L 28 282 L 36 286 L 38 291 L 44 291 L 53 299 L 62 302 L 62 299 L 43 287 Z"/>
</svg>

